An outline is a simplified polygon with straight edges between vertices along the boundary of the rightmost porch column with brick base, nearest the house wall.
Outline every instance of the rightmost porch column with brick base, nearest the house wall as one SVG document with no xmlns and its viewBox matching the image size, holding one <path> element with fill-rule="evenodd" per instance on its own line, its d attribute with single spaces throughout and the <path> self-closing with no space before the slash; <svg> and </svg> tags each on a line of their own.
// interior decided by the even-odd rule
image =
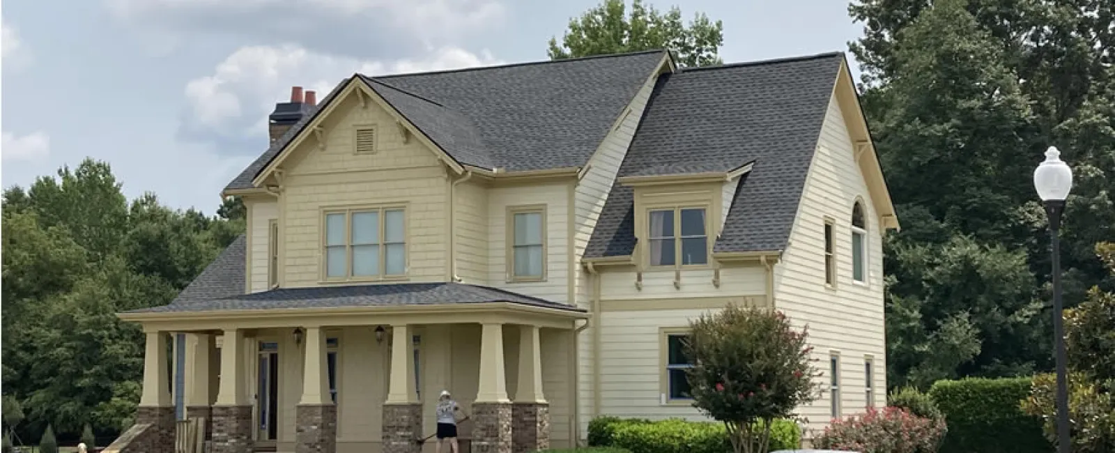
<svg viewBox="0 0 1115 453">
<path fill-rule="evenodd" d="M 542 393 L 542 344 L 537 326 L 518 326 L 518 385 L 512 418 L 514 453 L 550 449 L 550 404 Z"/>
</svg>

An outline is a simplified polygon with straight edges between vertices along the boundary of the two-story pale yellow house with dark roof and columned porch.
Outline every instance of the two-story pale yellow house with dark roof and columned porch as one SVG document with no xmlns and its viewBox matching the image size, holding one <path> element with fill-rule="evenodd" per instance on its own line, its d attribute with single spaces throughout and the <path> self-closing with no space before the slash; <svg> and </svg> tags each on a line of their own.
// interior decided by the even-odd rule
<svg viewBox="0 0 1115 453">
<path fill-rule="evenodd" d="M 357 74 L 316 100 L 292 89 L 225 187 L 246 234 L 120 315 L 147 338 L 122 441 L 169 451 L 190 417 L 214 452 L 418 452 L 443 389 L 478 452 L 698 420 L 680 344 L 729 302 L 808 325 L 809 427 L 885 403 L 898 222 L 843 54 Z"/>
</svg>

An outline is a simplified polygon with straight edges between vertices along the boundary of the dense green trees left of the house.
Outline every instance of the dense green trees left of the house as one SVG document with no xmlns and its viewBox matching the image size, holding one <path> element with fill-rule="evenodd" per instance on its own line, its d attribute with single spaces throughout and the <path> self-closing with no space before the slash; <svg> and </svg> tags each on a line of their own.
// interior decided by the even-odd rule
<svg viewBox="0 0 1115 453">
<path fill-rule="evenodd" d="M 243 216 L 172 210 L 153 194 L 129 202 L 108 164 L 91 160 L 9 187 L 2 204 L 6 424 L 22 438 L 47 426 L 126 427 L 143 335 L 116 314 L 169 302 L 243 231 Z M 8 422 L 10 406 L 26 421 Z"/>
</svg>

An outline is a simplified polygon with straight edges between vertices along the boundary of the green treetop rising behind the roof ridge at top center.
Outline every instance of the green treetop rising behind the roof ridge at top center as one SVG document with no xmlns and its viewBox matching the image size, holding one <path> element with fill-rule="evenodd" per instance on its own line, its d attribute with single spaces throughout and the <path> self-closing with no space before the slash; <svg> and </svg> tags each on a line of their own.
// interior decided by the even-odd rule
<svg viewBox="0 0 1115 453">
<path fill-rule="evenodd" d="M 687 26 L 678 7 L 665 13 L 641 0 L 631 4 L 631 13 L 622 0 L 604 0 L 580 18 L 569 21 L 561 44 L 550 38 L 550 59 L 589 57 L 669 49 L 680 66 L 719 65 L 724 45 L 724 25 L 697 13 Z"/>
</svg>

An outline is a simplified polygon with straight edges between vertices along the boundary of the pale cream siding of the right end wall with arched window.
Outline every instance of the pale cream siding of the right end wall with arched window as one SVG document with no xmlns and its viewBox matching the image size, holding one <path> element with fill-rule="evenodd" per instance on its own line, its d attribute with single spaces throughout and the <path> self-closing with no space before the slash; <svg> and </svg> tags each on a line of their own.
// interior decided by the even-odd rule
<svg viewBox="0 0 1115 453">
<path fill-rule="evenodd" d="M 814 357 L 824 376 L 818 383 L 826 392 L 803 407 L 801 415 L 812 428 L 822 428 L 830 418 L 827 393 L 828 354 L 841 355 L 841 403 L 844 415 L 862 413 L 864 355 L 874 356 L 874 401 L 885 404 L 886 363 L 883 326 L 882 238 L 879 218 L 867 193 L 863 174 L 855 163 L 844 117 L 835 100 L 830 102 L 818 151 L 806 180 L 797 220 L 783 262 L 776 267 L 775 305 L 796 324 L 809 326 Z M 867 283 L 852 282 L 851 221 L 856 197 L 863 200 L 867 221 Z M 824 218 L 835 220 L 836 288 L 825 288 Z"/>
</svg>

